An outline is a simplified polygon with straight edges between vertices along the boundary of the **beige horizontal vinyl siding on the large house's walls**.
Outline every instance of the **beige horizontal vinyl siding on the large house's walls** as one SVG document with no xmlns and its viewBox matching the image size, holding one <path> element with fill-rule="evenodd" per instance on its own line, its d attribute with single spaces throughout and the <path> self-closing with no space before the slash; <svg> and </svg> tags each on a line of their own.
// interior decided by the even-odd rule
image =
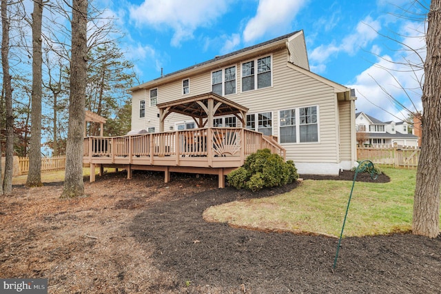
<svg viewBox="0 0 441 294">
<path fill-rule="evenodd" d="M 262 55 L 261 57 L 264 56 L 267 55 Z M 272 112 L 273 135 L 275 136 L 278 136 L 279 110 L 317 106 L 319 141 L 302 144 L 283 144 L 283 147 L 287 150 L 287 159 L 294 160 L 295 163 L 303 163 L 305 166 L 309 163 L 314 163 L 318 168 L 320 168 L 320 164 L 327 163 L 328 166 L 335 166 L 335 168 L 338 169 L 340 159 L 337 126 L 339 124 L 347 124 L 347 119 L 344 121 L 338 121 L 338 115 L 336 115 L 338 105 L 334 87 L 296 70 L 294 66 L 290 66 L 289 63 L 287 63 L 286 48 L 273 52 L 271 56 L 271 70 L 273 75 L 272 86 L 241 92 L 241 62 L 239 62 L 236 63 L 236 94 L 227 95 L 225 97 L 249 108 L 249 114 L 256 112 Z M 225 64 L 225 67 L 233 65 L 234 64 L 229 63 Z M 188 77 L 190 79 L 189 95 L 194 96 L 210 92 L 211 74 L 212 70 L 203 72 L 200 75 Z M 139 110 L 136 110 L 136 105 L 139 105 L 139 97 L 142 96 L 139 93 L 141 91 L 143 90 L 133 92 L 133 106 L 135 107 L 132 112 L 134 114 L 132 116 L 132 129 L 142 125 L 142 123 L 137 121 L 139 120 Z M 158 86 L 158 103 L 172 101 L 181 97 L 183 97 L 182 79 L 178 79 L 167 85 Z M 150 104 L 147 104 L 147 100 L 148 94 L 146 97 L 146 105 L 150 106 Z M 158 110 L 156 107 L 147 106 L 146 118 L 148 117 L 148 119 L 154 122 L 156 130 L 158 130 L 159 124 L 158 118 L 156 117 Z M 342 109 L 341 111 L 349 112 L 349 110 L 346 109 Z M 192 121 L 191 118 L 183 115 L 170 115 L 165 120 L 165 130 L 169 130 L 170 126 L 174 126 L 176 121 L 183 120 Z M 348 140 L 345 139 L 344 143 L 347 144 L 347 141 Z M 347 153 L 348 148 L 350 147 L 342 147 L 342 150 L 345 150 L 345 154 Z"/>
</svg>

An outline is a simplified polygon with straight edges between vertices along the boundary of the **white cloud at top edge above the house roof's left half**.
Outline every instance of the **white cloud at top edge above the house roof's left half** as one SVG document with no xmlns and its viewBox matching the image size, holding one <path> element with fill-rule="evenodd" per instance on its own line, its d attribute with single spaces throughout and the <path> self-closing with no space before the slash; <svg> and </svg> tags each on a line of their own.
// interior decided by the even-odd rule
<svg viewBox="0 0 441 294">
<path fill-rule="evenodd" d="M 130 19 L 136 25 L 174 30 L 172 46 L 193 38 L 199 26 L 209 26 L 227 11 L 229 0 L 145 0 L 140 6 L 130 7 Z"/>
</svg>

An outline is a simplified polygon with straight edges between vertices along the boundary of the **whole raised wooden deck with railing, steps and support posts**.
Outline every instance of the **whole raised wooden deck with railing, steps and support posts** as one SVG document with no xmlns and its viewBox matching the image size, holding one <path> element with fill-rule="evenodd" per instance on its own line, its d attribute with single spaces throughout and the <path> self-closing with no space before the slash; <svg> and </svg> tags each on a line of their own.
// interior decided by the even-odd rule
<svg viewBox="0 0 441 294">
<path fill-rule="evenodd" d="M 123 137 L 86 137 L 83 163 L 90 164 L 90 182 L 95 167 L 124 168 L 127 178 L 132 170 L 158 170 L 165 173 L 202 173 L 218 175 L 219 188 L 225 175 L 243 165 L 245 158 L 259 149 L 286 157 L 276 140 L 245 128 L 196 128 L 164 133 Z"/>
</svg>

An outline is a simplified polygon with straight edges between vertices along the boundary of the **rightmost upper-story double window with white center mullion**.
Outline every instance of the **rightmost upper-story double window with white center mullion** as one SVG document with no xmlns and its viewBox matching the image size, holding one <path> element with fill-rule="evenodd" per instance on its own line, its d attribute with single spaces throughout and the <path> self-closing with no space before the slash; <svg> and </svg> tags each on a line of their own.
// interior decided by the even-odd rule
<svg viewBox="0 0 441 294">
<path fill-rule="evenodd" d="M 257 65 L 257 75 L 255 66 Z M 242 91 L 271 86 L 271 56 L 242 63 Z"/>
</svg>

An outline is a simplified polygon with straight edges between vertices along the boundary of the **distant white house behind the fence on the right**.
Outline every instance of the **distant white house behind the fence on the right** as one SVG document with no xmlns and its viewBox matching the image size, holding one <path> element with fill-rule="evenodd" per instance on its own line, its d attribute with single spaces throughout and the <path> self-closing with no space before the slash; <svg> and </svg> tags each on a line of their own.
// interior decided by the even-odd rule
<svg viewBox="0 0 441 294">
<path fill-rule="evenodd" d="M 409 133 L 405 121 L 380 121 L 364 112 L 356 113 L 356 132 L 358 145 L 389 145 L 418 147 L 418 137 Z"/>
</svg>

